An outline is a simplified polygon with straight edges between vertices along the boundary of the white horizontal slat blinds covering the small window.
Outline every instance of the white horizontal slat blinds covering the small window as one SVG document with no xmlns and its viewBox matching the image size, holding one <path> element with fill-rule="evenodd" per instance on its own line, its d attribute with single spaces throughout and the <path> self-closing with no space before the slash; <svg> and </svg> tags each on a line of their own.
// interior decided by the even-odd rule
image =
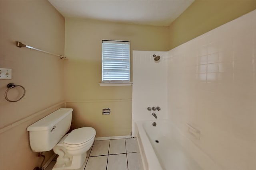
<svg viewBox="0 0 256 170">
<path fill-rule="evenodd" d="M 102 82 L 130 82 L 129 41 L 102 41 Z"/>
</svg>

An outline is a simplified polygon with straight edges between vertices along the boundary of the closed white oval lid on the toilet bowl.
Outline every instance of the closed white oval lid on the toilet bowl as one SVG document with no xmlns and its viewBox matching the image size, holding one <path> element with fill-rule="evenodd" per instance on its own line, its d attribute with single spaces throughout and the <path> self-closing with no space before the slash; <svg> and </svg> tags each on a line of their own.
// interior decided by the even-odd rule
<svg viewBox="0 0 256 170">
<path fill-rule="evenodd" d="M 95 135 L 96 131 L 92 127 L 81 127 L 71 131 L 63 142 L 69 145 L 79 145 L 89 141 Z"/>
</svg>

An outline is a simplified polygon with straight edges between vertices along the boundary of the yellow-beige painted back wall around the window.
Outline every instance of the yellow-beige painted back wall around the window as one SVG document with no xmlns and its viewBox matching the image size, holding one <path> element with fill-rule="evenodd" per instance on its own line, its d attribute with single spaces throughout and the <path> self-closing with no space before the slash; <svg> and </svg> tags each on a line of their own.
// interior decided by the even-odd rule
<svg viewBox="0 0 256 170">
<path fill-rule="evenodd" d="M 130 41 L 131 55 L 132 50 L 167 51 L 168 27 L 67 18 L 65 29 L 65 99 L 74 108 L 72 128 L 92 126 L 96 137 L 130 135 L 132 86 L 98 84 L 102 39 Z M 110 115 L 102 115 L 108 107 Z"/>
</svg>

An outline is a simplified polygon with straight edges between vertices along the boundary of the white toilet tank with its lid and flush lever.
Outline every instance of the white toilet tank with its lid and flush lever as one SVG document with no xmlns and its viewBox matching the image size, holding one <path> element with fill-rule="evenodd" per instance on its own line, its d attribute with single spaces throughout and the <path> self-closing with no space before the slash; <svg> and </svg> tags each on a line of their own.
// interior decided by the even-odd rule
<svg viewBox="0 0 256 170">
<path fill-rule="evenodd" d="M 27 128 L 34 152 L 51 150 L 68 132 L 73 109 L 60 108 Z"/>
</svg>

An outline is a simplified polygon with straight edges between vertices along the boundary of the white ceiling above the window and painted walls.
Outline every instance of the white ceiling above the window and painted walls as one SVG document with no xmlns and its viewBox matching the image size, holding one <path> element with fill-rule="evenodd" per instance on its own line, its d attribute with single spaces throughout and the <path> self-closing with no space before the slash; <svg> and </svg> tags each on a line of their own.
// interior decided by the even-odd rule
<svg viewBox="0 0 256 170">
<path fill-rule="evenodd" d="M 49 0 L 65 18 L 169 26 L 194 0 Z"/>
</svg>

